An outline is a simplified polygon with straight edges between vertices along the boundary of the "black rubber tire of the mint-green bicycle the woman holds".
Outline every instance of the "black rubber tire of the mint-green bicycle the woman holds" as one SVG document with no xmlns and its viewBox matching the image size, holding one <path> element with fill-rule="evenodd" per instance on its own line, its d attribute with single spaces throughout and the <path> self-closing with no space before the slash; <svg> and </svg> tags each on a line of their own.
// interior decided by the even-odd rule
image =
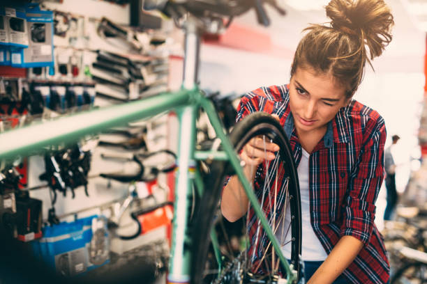
<svg viewBox="0 0 427 284">
<path fill-rule="evenodd" d="M 234 149 L 239 152 L 239 150 L 241 150 L 241 148 L 243 148 L 243 146 L 250 139 L 260 135 L 264 135 L 264 137 L 267 136 L 268 139 L 271 139 L 272 142 L 279 145 L 280 150 L 278 151 L 278 154 L 280 155 L 281 159 L 279 159 L 278 164 L 280 163 L 280 165 L 283 166 L 283 169 L 285 169 L 285 173 L 287 174 L 285 178 L 289 178 L 287 182 L 287 189 L 289 190 L 290 196 L 290 215 L 292 216 L 290 221 L 290 226 L 292 227 L 292 230 L 290 230 L 292 235 L 292 253 L 290 260 L 294 265 L 294 269 L 299 272 L 301 255 L 301 201 L 299 197 L 299 181 L 297 176 L 297 168 L 294 164 L 292 150 L 290 148 L 290 143 L 286 137 L 285 132 L 283 131 L 283 127 L 281 127 L 280 123 L 278 123 L 278 121 L 268 113 L 251 113 L 234 127 L 229 138 L 230 142 L 234 146 Z M 228 170 L 229 168 L 230 165 L 226 164 L 225 162 L 214 162 L 211 165 L 211 173 L 204 178 L 205 193 L 200 200 L 201 206 L 197 208 L 196 212 L 198 213 L 195 214 L 196 219 L 195 225 L 193 227 L 193 261 L 191 265 L 192 283 L 224 282 L 215 281 L 216 276 L 213 277 L 213 281 L 212 279 L 207 279 L 205 277 L 205 271 L 207 266 L 209 267 L 210 262 L 208 258 L 208 251 L 209 249 L 212 249 L 212 247 L 209 233 L 211 228 L 214 226 L 214 220 L 216 224 L 225 220 L 225 218 L 222 216 L 219 216 L 218 218 L 217 215 L 218 202 L 220 199 L 221 190 L 223 189 L 225 178 L 227 175 L 231 174 L 230 170 Z M 266 168 L 268 168 L 268 166 Z M 276 174 L 276 177 L 277 176 L 278 174 Z M 254 224 L 255 223 L 253 223 L 253 225 Z M 258 226 L 260 226 L 259 223 Z M 230 239 L 228 239 L 227 242 L 230 242 Z M 241 255 L 241 253 L 239 255 Z M 221 258 L 224 259 L 225 256 L 221 255 Z M 234 260 L 229 260 L 227 265 L 230 265 L 230 263 L 233 261 Z M 265 261 L 267 262 L 267 258 Z M 273 265 L 274 263 L 271 264 L 271 267 L 273 267 Z M 223 267 L 224 266 L 225 265 L 223 265 Z M 250 271 L 244 271 L 244 274 L 247 272 Z M 221 276 L 218 274 L 218 278 L 219 277 Z M 266 277 L 267 279 L 270 277 L 270 280 L 274 278 L 272 275 L 267 275 Z M 265 279 L 266 278 L 264 277 L 264 281 Z M 269 281 L 267 280 L 267 282 L 264 283 L 269 283 Z"/>
</svg>

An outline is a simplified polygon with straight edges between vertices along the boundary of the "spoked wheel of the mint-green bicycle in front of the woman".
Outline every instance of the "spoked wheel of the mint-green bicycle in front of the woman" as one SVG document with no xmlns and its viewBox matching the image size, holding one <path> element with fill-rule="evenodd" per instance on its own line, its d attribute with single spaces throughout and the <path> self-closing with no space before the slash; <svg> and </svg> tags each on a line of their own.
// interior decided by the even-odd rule
<svg viewBox="0 0 427 284">
<path fill-rule="evenodd" d="M 290 143 L 285 132 L 268 113 L 248 115 L 230 134 L 230 141 L 237 153 L 244 145 L 260 137 L 279 145 L 280 150 L 272 161 L 264 161 L 257 168 L 253 190 L 266 215 L 271 229 L 281 245 L 288 248 L 288 255 L 299 271 L 301 254 L 301 204 L 299 182 Z M 193 283 L 275 283 L 285 277 L 283 267 L 271 241 L 262 229 L 260 220 L 248 205 L 245 216 L 234 223 L 220 213 L 219 199 L 225 178 L 233 173 L 230 165 L 216 162 L 204 179 L 205 193 L 196 211 L 193 228 Z M 235 196 L 241 198 L 241 196 Z M 215 228 L 218 245 L 211 243 L 211 228 Z M 290 252 L 289 252 L 290 251 Z M 218 265 L 220 260 L 221 265 Z"/>
</svg>

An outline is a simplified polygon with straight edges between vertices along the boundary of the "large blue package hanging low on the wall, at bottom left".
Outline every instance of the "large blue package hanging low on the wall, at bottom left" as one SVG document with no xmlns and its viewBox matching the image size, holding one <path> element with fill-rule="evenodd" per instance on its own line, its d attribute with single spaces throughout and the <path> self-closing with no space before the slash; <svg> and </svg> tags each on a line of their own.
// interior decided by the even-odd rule
<svg viewBox="0 0 427 284">
<path fill-rule="evenodd" d="M 89 216 L 43 228 L 32 245 L 41 258 L 62 276 L 75 276 L 110 262 L 110 243 L 103 216 Z"/>
</svg>

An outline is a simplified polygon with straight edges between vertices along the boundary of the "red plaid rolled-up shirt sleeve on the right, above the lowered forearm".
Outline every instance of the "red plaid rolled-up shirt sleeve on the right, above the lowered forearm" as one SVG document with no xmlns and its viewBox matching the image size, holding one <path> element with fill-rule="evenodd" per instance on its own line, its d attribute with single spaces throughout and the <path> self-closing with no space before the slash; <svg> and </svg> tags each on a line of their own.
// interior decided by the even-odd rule
<svg viewBox="0 0 427 284">
<path fill-rule="evenodd" d="M 381 117 L 366 123 L 363 146 L 350 177 L 343 202 L 341 236 L 369 242 L 375 219 L 375 201 L 384 179 L 384 143 L 386 128 Z"/>
</svg>

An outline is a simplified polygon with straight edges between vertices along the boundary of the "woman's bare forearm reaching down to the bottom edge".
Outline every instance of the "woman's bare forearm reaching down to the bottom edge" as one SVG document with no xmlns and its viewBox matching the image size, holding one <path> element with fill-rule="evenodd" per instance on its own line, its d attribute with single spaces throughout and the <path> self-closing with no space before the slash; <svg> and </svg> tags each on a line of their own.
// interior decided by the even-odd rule
<svg viewBox="0 0 427 284">
<path fill-rule="evenodd" d="M 353 262 L 364 243 L 352 236 L 343 236 L 307 284 L 332 283 Z"/>
</svg>

